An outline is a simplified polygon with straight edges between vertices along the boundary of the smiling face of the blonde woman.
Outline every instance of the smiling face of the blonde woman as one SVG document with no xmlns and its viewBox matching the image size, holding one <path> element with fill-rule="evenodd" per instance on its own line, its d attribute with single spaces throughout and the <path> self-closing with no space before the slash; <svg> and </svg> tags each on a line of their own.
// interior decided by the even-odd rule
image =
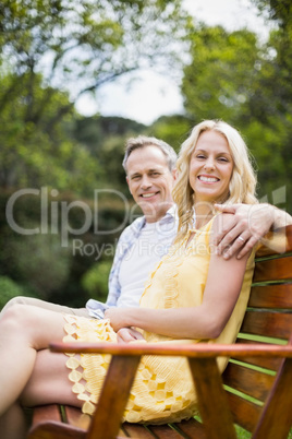
<svg viewBox="0 0 292 439">
<path fill-rule="evenodd" d="M 204 131 L 190 162 L 190 185 L 196 202 L 223 202 L 229 193 L 233 158 L 223 134 Z"/>
</svg>

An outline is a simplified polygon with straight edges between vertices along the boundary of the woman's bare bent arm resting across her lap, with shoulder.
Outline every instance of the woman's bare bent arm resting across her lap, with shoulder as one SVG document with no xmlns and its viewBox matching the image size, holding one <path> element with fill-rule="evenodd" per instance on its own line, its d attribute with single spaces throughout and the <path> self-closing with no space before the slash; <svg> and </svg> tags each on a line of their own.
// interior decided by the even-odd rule
<svg viewBox="0 0 292 439">
<path fill-rule="evenodd" d="M 214 222 L 215 232 L 231 221 L 231 216 L 230 214 L 217 216 Z M 216 339 L 227 324 L 239 298 L 247 258 L 248 256 L 236 259 L 234 254 L 231 259 L 224 260 L 214 252 L 203 302 L 198 307 L 110 308 L 106 311 L 106 318 L 110 319 L 114 331 L 136 327 L 173 339 Z"/>
</svg>

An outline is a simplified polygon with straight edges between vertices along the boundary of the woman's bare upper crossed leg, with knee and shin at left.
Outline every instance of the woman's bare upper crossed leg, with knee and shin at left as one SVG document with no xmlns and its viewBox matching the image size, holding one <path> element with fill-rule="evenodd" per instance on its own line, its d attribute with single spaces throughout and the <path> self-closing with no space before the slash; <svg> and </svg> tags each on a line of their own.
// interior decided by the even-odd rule
<svg viewBox="0 0 292 439">
<path fill-rule="evenodd" d="M 37 352 L 53 340 L 62 340 L 63 325 L 61 313 L 25 305 L 15 305 L 1 317 L 0 416 L 14 405 L 28 383 Z"/>
</svg>

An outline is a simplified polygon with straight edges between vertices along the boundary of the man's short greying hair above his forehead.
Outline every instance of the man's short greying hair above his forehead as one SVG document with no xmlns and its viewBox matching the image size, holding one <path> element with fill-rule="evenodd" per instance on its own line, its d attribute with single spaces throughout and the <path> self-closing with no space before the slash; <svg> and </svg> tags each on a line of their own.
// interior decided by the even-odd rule
<svg viewBox="0 0 292 439">
<path fill-rule="evenodd" d="M 126 171 L 126 162 L 133 151 L 138 150 L 139 147 L 145 146 L 157 146 L 162 151 L 165 156 L 167 157 L 167 164 L 169 170 L 173 170 L 177 164 L 177 153 L 167 142 L 163 142 L 160 139 L 156 138 L 147 138 L 146 135 L 138 135 L 137 138 L 131 138 L 126 141 L 125 144 L 125 153 L 123 159 L 123 168 Z"/>
</svg>

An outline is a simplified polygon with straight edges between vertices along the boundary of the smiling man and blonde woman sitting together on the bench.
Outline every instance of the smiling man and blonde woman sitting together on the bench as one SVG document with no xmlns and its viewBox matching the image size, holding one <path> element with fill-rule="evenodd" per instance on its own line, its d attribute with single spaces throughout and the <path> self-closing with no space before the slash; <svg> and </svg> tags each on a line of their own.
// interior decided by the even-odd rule
<svg viewBox="0 0 292 439">
<path fill-rule="evenodd" d="M 178 161 L 162 141 L 131 139 L 123 166 L 144 216 L 121 235 L 107 304 L 89 300 L 73 309 L 19 297 L 1 311 L 4 439 L 25 437 L 24 406 L 95 410 L 109 356 L 52 354 L 51 341 L 233 343 L 248 301 L 255 246 L 270 228 L 292 223 L 257 203 L 248 151 L 226 122 L 194 127 Z M 226 363 L 220 359 L 220 371 Z M 124 420 L 178 422 L 195 412 L 186 359 L 143 357 Z"/>
</svg>

